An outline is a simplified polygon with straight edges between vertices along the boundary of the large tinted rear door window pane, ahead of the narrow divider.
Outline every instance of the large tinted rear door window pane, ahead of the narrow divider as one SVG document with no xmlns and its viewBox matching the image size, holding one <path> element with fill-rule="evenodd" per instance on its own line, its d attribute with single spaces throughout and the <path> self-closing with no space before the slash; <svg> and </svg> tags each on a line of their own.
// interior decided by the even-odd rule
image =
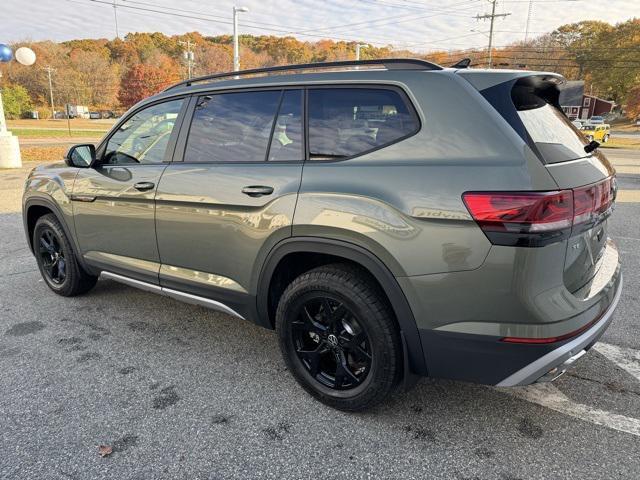
<svg viewBox="0 0 640 480">
<path fill-rule="evenodd" d="M 264 161 L 281 95 L 267 90 L 199 97 L 184 161 Z"/>
</svg>

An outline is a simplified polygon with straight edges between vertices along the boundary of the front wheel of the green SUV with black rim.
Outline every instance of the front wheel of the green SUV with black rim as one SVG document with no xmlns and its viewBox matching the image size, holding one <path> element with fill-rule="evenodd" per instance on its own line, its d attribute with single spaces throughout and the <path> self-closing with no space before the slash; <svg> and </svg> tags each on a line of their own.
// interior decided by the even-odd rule
<svg viewBox="0 0 640 480">
<path fill-rule="evenodd" d="M 81 295 L 91 290 L 98 281 L 98 277 L 82 269 L 60 221 L 52 213 L 43 215 L 36 222 L 33 251 L 42 278 L 58 295 Z"/>
</svg>

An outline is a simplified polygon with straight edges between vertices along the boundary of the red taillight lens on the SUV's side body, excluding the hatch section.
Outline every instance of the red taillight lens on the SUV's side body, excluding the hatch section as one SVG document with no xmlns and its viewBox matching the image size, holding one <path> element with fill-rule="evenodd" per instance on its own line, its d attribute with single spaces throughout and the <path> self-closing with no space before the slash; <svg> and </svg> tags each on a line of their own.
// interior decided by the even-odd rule
<svg viewBox="0 0 640 480">
<path fill-rule="evenodd" d="M 559 192 L 465 193 L 474 220 L 485 230 L 542 232 L 571 226 L 573 195 Z"/>
</svg>

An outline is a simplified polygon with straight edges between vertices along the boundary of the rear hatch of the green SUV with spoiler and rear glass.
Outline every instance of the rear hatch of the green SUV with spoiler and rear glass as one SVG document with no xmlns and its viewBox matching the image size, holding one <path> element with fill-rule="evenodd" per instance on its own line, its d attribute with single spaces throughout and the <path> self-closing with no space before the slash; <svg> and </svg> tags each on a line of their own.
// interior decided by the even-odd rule
<svg viewBox="0 0 640 480">
<path fill-rule="evenodd" d="M 545 165 L 560 197 L 571 202 L 564 283 L 579 292 L 605 263 L 607 218 L 615 199 L 614 169 L 562 112 L 564 79 L 551 73 L 459 71 L 511 125 Z M 569 200 L 567 200 L 569 199 Z M 531 245 L 536 246 L 536 245 Z"/>
</svg>

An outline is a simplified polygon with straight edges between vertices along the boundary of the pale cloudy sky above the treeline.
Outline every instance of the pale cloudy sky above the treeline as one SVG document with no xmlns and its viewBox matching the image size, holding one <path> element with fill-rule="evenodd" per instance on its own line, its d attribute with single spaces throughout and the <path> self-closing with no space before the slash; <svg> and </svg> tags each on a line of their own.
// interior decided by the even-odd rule
<svg viewBox="0 0 640 480">
<path fill-rule="evenodd" d="M 114 38 L 114 0 L 2 0 L 0 43 Z M 118 33 L 232 32 L 233 5 L 246 6 L 240 32 L 300 40 L 353 40 L 417 52 L 481 48 L 489 0 L 115 0 Z M 532 0 L 529 38 L 581 20 L 640 18 L 640 0 Z M 494 45 L 525 37 L 529 0 L 498 0 Z M 150 11 L 155 10 L 155 11 Z M 169 14 L 160 13 L 168 12 Z M 196 18 L 194 18 L 196 17 Z"/>
</svg>

